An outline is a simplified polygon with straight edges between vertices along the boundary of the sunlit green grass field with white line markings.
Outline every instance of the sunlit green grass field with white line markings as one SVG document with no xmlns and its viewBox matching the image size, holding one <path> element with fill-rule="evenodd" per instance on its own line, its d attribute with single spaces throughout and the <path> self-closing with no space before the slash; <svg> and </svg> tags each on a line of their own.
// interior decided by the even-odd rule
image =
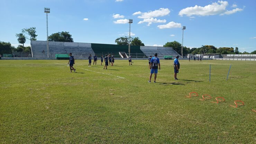
<svg viewBox="0 0 256 144">
<path fill-rule="evenodd" d="M 76 60 L 70 73 L 68 60 L 0 60 L 0 143 L 255 144 L 255 61 L 180 60 L 174 80 L 173 60 L 160 60 L 157 83 L 133 61 Z"/>
</svg>

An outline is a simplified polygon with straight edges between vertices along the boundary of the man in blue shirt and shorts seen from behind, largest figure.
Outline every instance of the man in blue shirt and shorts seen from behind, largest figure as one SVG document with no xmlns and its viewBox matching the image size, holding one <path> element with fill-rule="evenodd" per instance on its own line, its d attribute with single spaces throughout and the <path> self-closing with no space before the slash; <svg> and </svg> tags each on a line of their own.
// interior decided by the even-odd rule
<svg viewBox="0 0 256 144">
<path fill-rule="evenodd" d="M 158 65 L 159 65 L 159 70 L 160 70 L 160 61 L 159 61 L 159 58 L 157 57 L 157 53 L 155 53 L 155 57 L 153 57 L 150 61 L 150 67 L 149 67 L 150 68 L 150 76 L 149 76 L 148 83 L 151 83 L 151 78 L 152 78 L 153 73 L 155 73 L 154 83 L 156 83 Z"/>
</svg>

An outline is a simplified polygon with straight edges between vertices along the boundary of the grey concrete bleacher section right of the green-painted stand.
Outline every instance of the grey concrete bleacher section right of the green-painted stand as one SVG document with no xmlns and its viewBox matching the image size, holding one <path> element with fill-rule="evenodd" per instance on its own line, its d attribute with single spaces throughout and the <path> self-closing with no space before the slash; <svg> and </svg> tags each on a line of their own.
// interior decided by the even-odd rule
<svg viewBox="0 0 256 144">
<path fill-rule="evenodd" d="M 154 56 L 157 53 L 158 58 L 164 58 L 164 56 L 177 56 L 179 55 L 173 48 L 171 47 L 153 47 L 153 46 L 140 46 L 140 50 L 144 52 L 144 54 L 149 56 Z M 181 55 L 179 55 L 181 56 Z"/>
</svg>

